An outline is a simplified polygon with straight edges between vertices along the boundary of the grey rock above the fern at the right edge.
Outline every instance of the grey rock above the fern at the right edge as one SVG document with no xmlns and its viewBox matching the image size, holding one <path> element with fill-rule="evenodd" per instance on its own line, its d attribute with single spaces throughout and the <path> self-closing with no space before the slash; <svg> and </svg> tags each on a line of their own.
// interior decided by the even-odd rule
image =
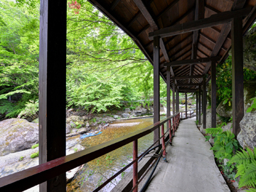
<svg viewBox="0 0 256 192">
<path fill-rule="evenodd" d="M 256 147 L 256 112 L 248 112 L 240 122 L 241 131 L 238 134 L 239 144 L 245 148 L 249 146 L 251 149 Z"/>
</svg>

